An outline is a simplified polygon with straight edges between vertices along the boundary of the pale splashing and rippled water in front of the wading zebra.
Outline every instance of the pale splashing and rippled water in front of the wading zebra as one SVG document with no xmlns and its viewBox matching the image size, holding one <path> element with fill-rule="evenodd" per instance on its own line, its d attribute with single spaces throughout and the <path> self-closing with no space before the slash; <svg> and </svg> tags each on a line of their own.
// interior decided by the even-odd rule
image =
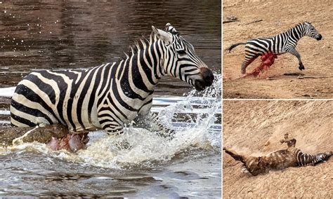
<svg viewBox="0 0 333 199">
<path fill-rule="evenodd" d="M 119 136 L 90 132 L 77 153 L 0 147 L 0 196 L 221 197 L 221 75 L 196 95 L 153 99 L 152 111 L 176 130 L 171 140 L 129 126 Z"/>
</svg>

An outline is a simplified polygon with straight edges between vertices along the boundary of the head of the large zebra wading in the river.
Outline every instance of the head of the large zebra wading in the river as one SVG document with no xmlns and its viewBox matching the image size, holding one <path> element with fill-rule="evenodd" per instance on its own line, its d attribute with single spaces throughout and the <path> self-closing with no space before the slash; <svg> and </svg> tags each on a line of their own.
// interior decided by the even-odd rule
<svg viewBox="0 0 333 199">
<path fill-rule="evenodd" d="M 164 74 L 179 78 L 195 86 L 196 90 L 204 90 L 213 83 L 214 75 L 211 70 L 173 26 L 167 23 L 164 30 L 152 26 L 152 32 L 157 39 L 162 40 L 165 50 L 162 60 Z"/>
</svg>

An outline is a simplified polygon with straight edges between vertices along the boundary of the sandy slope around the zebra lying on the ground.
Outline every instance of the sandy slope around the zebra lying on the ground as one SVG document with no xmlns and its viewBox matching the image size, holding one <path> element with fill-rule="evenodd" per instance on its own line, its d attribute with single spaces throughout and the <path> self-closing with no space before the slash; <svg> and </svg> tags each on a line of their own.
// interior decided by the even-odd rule
<svg viewBox="0 0 333 199">
<path fill-rule="evenodd" d="M 284 134 L 304 153 L 333 151 L 333 101 L 224 101 L 223 146 L 260 156 L 286 149 Z M 223 198 L 332 198 L 333 158 L 254 177 L 223 153 Z"/>
</svg>

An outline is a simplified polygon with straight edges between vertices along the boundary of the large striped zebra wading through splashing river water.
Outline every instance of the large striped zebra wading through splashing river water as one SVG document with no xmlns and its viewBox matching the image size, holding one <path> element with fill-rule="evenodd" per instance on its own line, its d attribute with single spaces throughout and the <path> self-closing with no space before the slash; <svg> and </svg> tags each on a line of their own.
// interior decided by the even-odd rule
<svg viewBox="0 0 333 199">
<path fill-rule="evenodd" d="M 34 71 L 20 81 L 11 99 L 11 125 L 61 123 L 70 133 L 103 129 L 121 134 L 133 121 L 161 135 L 174 131 L 152 114 L 152 95 L 162 76 L 173 76 L 204 90 L 214 74 L 195 49 L 169 23 L 152 26 L 119 62 L 91 69 Z"/>
</svg>

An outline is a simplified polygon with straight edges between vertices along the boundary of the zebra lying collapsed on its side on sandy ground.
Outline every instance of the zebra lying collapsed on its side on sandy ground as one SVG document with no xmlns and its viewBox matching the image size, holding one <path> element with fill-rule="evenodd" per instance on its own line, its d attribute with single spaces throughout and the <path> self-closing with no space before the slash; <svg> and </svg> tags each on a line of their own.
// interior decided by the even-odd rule
<svg viewBox="0 0 333 199">
<path fill-rule="evenodd" d="M 285 135 L 285 139 L 282 139 L 280 142 L 287 143 L 288 148 L 269 153 L 266 156 L 244 156 L 226 147 L 223 148 L 223 151 L 235 160 L 241 161 L 245 169 L 254 176 L 268 172 L 270 169 L 282 170 L 287 167 L 316 165 L 327 161 L 332 156 L 332 151 L 318 153 L 315 156 L 303 153 L 295 147 L 296 139 L 287 139 L 287 134 Z"/>
</svg>

